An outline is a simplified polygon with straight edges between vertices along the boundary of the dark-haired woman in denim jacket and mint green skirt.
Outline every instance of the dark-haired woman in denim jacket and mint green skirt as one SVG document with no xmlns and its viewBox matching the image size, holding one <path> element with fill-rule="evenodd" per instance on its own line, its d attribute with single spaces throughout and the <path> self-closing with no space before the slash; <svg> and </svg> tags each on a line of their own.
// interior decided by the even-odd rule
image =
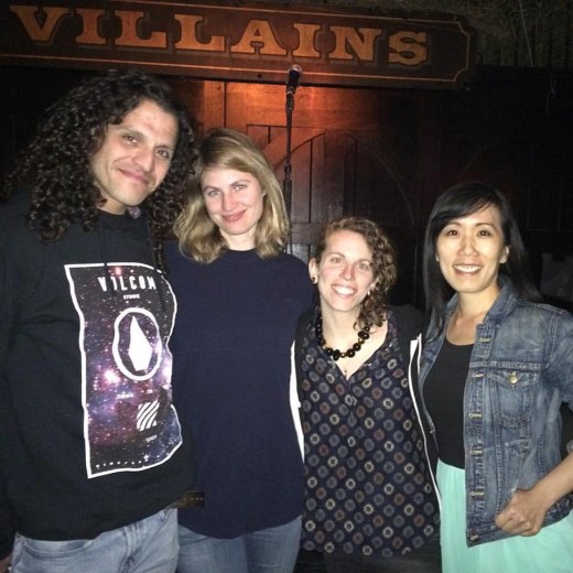
<svg viewBox="0 0 573 573">
<path fill-rule="evenodd" d="M 507 199 L 441 195 L 428 224 L 430 326 L 420 371 L 439 450 L 444 573 L 570 572 L 573 317 L 539 303 Z"/>
</svg>

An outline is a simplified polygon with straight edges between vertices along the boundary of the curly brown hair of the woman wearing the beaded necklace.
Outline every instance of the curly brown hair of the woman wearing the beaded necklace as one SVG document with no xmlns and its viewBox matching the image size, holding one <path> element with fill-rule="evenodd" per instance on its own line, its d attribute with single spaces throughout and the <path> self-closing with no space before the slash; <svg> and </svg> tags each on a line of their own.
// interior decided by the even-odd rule
<svg viewBox="0 0 573 573">
<path fill-rule="evenodd" d="M 322 227 L 314 255 L 316 263 L 321 262 L 328 238 L 340 230 L 352 230 L 361 235 L 372 253 L 372 275 L 376 285 L 361 304 L 357 326 L 364 327 L 366 323 L 381 326 L 386 320 L 388 294 L 398 278 L 394 247 L 375 221 L 365 217 L 345 217 Z"/>
</svg>

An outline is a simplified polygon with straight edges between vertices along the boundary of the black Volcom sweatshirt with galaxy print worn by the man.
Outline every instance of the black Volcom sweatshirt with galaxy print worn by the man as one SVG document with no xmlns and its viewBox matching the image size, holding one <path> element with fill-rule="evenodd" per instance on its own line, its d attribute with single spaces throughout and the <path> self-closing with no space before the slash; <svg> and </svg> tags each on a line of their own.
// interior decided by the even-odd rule
<svg viewBox="0 0 573 573">
<path fill-rule="evenodd" d="M 171 403 L 175 301 L 143 217 L 100 213 L 46 245 L 28 208 L 0 208 L 0 556 L 11 526 L 94 538 L 193 483 Z"/>
</svg>

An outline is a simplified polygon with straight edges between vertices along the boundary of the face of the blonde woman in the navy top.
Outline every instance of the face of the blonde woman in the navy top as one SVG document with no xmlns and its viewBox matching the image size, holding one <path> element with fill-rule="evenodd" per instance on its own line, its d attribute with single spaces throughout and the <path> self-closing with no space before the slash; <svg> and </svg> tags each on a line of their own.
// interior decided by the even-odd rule
<svg viewBox="0 0 573 573">
<path fill-rule="evenodd" d="M 233 169 L 207 167 L 201 187 L 207 213 L 229 248 L 253 249 L 264 196 L 257 177 Z"/>
</svg>

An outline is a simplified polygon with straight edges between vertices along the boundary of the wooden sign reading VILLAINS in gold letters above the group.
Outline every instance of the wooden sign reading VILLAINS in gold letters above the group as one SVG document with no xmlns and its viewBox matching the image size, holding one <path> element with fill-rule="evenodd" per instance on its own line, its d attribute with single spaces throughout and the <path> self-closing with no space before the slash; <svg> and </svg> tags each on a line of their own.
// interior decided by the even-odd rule
<svg viewBox="0 0 573 573">
<path fill-rule="evenodd" d="M 161 74 L 280 83 L 292 64 L 315 85 L 456 87 L 474 36 L 454 19 L 162 0 L 7 1 L 0 63 L 138 66 Z"/>
</svg>

